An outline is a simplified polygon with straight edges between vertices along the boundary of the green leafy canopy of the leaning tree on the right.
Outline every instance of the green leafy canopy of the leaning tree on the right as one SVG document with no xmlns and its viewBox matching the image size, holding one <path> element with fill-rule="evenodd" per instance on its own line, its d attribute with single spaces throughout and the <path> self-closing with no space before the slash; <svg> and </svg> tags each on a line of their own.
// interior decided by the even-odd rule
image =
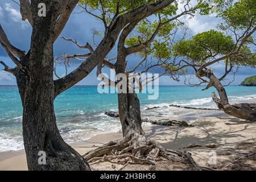
<svg viewBox="0 0 256 182">
<path fill-rule="evenodd" d="M 220 77 L 220 81 L 230 72 L 236 73 L 237 70 L 233 70 L 234 68 L 256 66 L 256 54 L 253 48 L 256 31 L 255 1 L 211 2 L 216 7 L 216 17 L 220 21 L 218 30 L 205 31 L 177 42 L 172 46 L 172 55 L 180 59 L 168 65 L 171 72 L 179 68 L 183 70 L 188 67 L 193 68 L 192 71 L 199 77 L 200 84 L 208 82 L 203 79 L 205 76 L 203 69 L 211 69 L 213 64 L 220 61 L 226 65 L 225 74 Z"/>
</svg>

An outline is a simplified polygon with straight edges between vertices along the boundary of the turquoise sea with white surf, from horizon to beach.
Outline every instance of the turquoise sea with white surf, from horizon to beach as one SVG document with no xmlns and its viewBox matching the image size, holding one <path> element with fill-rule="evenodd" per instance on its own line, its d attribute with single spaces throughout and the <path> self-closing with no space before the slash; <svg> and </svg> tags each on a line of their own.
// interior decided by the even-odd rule
<svg viewBox="0 0 256 182">
<path fill-rule="evenodd" d="M 168 107 L 170 104 L 193 107 L 216 107 L 211 99 L 211 88 L 159 86 L 157 100 L 148 94 L 138 94 L 143 118 L 196 119 L 207 114 L 195 110 Z M 231 103 L 256 102 L 256 87 L 227 86 Z M 164 106 L 146 110 L 151 106 Z M 97 86 L 75 86 L 56 98 L 55 113 L 60 133 L 67 142 L 78 142 L 98 133 L 119 131 L 118 118 L 106 116 L 105 111 L 117 111 L 117 94 L 100 94 Z M 214 111 L 216 114 L 221 111 Z M 215 114 L 214 113 L 214 114 Z M 16 86 L 0 86 L 0 151 L 20 150 L 22 141 L 22 105 Z"/>
</svg>

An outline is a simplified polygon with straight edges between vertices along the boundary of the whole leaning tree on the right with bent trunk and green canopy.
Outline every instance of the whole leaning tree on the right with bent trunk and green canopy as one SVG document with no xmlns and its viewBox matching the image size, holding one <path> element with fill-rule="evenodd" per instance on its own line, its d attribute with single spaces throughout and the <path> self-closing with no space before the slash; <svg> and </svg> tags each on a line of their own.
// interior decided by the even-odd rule
<svg viewBox="0 0 256 182">
<path fill-rule="evenodd" d="M 173 50 L 181 57 L 176 67 L 185 65 L 191 67 L 199 83 L 189 85 L 199 86 L 207 83 L 216 88 L 220 98 L 213 92 L 212 97 L 219 109 L 234 117 L 254 121 L 256 119 L 256 104 L 229 104 L 228 96 L 221 81 L 225 80 L 229 73 L 237 72 L 238 67 L 256 66 L 256 55 L 251 45 L 255 45 L 253 34 L 256 30 L 255 1 L 241 0 L 231 3 L 224 10 L 219 10 L 218 16 L 223 23 L 220 29 L 224 32 L 210 30 L 193 36 L 192 39 L 182 40 Z M 224 6 L 221 6 L 224 8 Z M 184 57 L 184 59 L 183 59 Z M 211 69 L 212 65 L 224 63 L 224 75 L 217 77 Z"/>
</svg>

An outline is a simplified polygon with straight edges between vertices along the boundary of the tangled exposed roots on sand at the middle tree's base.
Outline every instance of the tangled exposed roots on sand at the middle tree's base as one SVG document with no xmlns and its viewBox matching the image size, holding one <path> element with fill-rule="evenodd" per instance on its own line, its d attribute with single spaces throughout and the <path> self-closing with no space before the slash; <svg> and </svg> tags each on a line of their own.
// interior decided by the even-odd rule
<svg viewBox="0 0 256 182">
<path fill-rule="evenodd" d="M 192 164 L 196 170 L 205 170 L 199 167 L 188 151 L 168 150 L 154 140 L 146 140 L 138 146 L 138 140 L 135 141 L 136 139 L 137 137 L 125 137 L 121 140 L 109 142 L 102 147 L 87 152 L 83 156 L 89 164 L 101 162 L 123 164 L 121 169 L 127 164 L 155 165 L 162 160 L 171 160 L 172 162 Z"/>
</svg>

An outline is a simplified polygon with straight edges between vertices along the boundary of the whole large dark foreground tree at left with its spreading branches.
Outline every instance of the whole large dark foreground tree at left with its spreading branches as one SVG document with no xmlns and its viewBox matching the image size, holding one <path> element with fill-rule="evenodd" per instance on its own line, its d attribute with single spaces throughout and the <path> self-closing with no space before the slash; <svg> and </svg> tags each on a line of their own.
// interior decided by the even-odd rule
<svg viewBox="0 0 256 182">
<path fill-rule="evenodd" d="M 86 1 L 81 1 L 86 2 Z M 101 1 L 88 1 L 90 7 Z M 90 170 L 88 163 L 61 138 L 56 126 L 53 101 L 65 90 L 85 78 L 113 48 L 122 29 L 131 22 L 163 10 L 174 0 L 113 1 L 115 16 L 105 23 L 105 36 L 88 59 L 67 76 L 53 80 L 53 43 L 60 35 L 79 0 L 20 0 L 23 20 L 32 26 L 28 52 L 14 47 L 0 26 L 0 43 L 16 64 L 5 71 L 16 77 L 23 106 L 23 140 L 29 170 Z M 46 5 L 46 16 L 39 16 L 39 3 Z M 119 9 L 119 7 L 121 7 Z M 127 8 L 127 9 L 126 9 Z M 119 11 L 121 10 L 122 11 Z M 105 13 L 102 18 L 106 22 Z M 88 49 L 90 47 L 88 46 Z M 39 151 L 46 152 L 46 165 L 38 164 Z"/>
</svg>

